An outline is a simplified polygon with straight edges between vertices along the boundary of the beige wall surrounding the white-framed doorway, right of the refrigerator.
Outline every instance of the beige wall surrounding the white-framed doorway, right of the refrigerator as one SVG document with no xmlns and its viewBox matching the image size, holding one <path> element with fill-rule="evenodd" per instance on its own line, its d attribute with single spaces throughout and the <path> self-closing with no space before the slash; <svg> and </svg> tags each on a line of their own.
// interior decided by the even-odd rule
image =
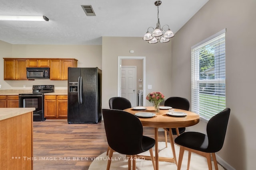
<svg viewBox="0 0 256 170">
<path fill-rule="evenodd" d="M 130 50 L 134 53 L 129 53 Z M 141 37 L 103 37 L 102 108 L 109 108 L 108 100 L 117 96 L 118 56 L 146 57 L 146 94 L 161 91 L 167 97 L 171 96 L 171 42 L 153 45 Z M 152 89 L 147 89 L 148 84 Z M 146 101 L 146 106 L 151 105 Z"/>
</svg>

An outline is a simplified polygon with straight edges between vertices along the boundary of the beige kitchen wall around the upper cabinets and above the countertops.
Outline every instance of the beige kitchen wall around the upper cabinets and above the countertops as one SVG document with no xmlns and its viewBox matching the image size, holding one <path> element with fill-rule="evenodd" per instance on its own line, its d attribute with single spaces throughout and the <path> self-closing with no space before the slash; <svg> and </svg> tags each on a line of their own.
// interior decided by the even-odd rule
<svg viewBox="0 0 256 170">
<path fill-rule="evenodd" d="M 8 48 L 7 48 L 8 47 Z M 55 89 L 67 89 L 67 80 L 5 80 L 4 57 L 13 58 L 72 58 L 78 60 L 78 67 L 98 67 L 102 69 L 101 45 L 11 45 L 0 41 L 0 81 L 2 89 L 32 89 L 36 84 L 53 84 Z M 0 83 L 0 84 L 1 84 Z"/>
</svg>

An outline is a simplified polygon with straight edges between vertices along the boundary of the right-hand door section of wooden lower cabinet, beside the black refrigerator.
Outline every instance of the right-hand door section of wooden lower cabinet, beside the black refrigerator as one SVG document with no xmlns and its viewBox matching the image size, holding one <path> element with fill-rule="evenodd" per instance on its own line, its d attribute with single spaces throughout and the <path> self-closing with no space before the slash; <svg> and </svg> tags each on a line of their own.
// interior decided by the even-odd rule
<svg viewBox="0 0 256 170">
<path fill-rule="evenodd" d="M 68 117 L 68 96 L 57 96 L 57 117 Z"/>
</svg>

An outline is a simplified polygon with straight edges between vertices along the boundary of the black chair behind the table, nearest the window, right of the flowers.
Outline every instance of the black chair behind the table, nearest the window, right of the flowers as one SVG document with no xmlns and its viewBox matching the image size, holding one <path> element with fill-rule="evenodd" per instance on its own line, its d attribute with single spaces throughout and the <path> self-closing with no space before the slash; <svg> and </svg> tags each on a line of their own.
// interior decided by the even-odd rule
<svg viewBox="0 0 256 170">
<path fill-rule="evenodd" d="M 174 109 L 176 108 L 176 109 L 189 110 L 190 103 L 189 103 L 188 99 L 186 99 L 186 98 L 170 97 L 170 98 L 165 100 L 164 106 L 170 106 Z M 170 131 L 169 128 L 166 128 L 166 129 L 167 129 L 167 131 Z M 180 135 L 185 130 L 186 130 L 185 127 L 179 127 L 179 128 L 172 128 L 171 129 L 173 135 Z M 166 130 L 164 131 L 166 147 L 167 147 L 167 131 Z"/>
</svg>

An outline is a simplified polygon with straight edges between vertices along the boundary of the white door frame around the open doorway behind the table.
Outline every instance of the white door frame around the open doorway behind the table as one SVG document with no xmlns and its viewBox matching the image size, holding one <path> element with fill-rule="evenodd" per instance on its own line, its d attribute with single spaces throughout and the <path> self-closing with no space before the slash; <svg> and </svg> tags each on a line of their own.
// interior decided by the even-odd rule
<svg viewBox="0 0 256 170">
<path fill-rule="evenodd" d="M 117 96 L 121 97 L 121 67 L 122 67 L 122 59 L 125 60 L 142 60 L 143 62 L 143 77 L 142 77 L 142 89 L 143 89 L 143 106 L 146 106 L 146 57 L 136 57 L 136 56 L 118 56 L 117 59 Z M 136 80 L 137 81 L 137 80 Z"/>
</svg>

